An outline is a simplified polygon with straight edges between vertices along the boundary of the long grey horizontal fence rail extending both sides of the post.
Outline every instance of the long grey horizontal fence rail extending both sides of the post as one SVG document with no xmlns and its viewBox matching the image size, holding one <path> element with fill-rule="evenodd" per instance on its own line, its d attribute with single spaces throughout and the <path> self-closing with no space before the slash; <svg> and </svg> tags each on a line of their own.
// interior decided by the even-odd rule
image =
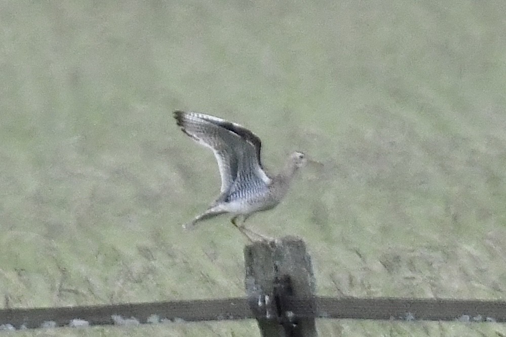
<svg viewBox="0 0 506 337">
<path fill-rule="evenodd" d="M 251 308 L 252 300 L 231 298 L 103 306 L 2 309 L 0 310 L 0 326 L 4 329 L 9 327 L 20 329 L 171 321 L 266 319 L 267 315 L 258 315 L 258 308 Z M 262 303 L 259 307 L 263 312 L 269 312 L 269 310 L 276 312 L 277 308 L 274 302 L 265 305 L 264 298 L 259 300 Z M 253 302 L 258 304 L 258 301 Z M 289 315 L 299 318 L 506 322 L 506 302 L 501 301 L 287 297 L 284 306 L 286 312 L 290 312 Z"/>
</svg>

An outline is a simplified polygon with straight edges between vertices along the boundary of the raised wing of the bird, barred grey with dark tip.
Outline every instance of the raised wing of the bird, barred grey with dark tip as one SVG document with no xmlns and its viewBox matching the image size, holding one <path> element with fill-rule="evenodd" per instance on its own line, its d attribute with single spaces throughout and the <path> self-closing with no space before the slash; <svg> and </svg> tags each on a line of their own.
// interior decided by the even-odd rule
<svg viewBox="0 0 506 337">
<path fill-rule="evenodd" d="M 221 176 L 221 193 L 230 189 L 240 167 L 248 167 L 265 183 L 270 181 L 260 161 L 260 139 L 248 129 L 197 112 L 174 111 L 174 118 L 185 134 L 213 151 Z"/>
</svg>

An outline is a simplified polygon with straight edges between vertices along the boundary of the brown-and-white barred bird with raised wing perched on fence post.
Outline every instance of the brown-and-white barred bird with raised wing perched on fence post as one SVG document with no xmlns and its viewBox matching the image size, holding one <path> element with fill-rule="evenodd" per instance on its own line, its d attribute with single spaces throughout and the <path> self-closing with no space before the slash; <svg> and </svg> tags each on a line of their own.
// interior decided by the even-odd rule
<svg viewBox="0 0 506 337">
<path fill-rule="evenodd" d="M 183 228 L 192 229 L 201 221 L 229 214 L 232 225 L 249 241 L 253 240 L 247 233 L 269 239 L 244 223 L 252 214 L 280 203 L 299 168 L 306 165 L 306 155 L 293 152 L 282 170 L 270 175 L 262 165 L 260 138 L 242 125 L 192 111 L 176 110 L 174 118 L 183 133 L 213 151 L 221 177 L 219 196 Z M 242 224 L 238 223 L 240 218 Z"/>
</svg>

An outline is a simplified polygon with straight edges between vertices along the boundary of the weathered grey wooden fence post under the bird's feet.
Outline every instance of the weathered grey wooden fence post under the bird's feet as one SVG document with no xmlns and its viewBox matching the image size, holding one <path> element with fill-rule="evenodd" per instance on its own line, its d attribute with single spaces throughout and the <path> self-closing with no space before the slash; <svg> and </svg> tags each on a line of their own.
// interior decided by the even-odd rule
<svg viewBox="0 0 506 337">
<path fill-rule="evenodd" d="M 304 241 L 284 237 L 258 241 L 244 249 L 246 292 L 263 337 L 317 336 L 315 318 L 296 317 L 288 298 L 310 299 L 315 276 Z"/>
</svg>

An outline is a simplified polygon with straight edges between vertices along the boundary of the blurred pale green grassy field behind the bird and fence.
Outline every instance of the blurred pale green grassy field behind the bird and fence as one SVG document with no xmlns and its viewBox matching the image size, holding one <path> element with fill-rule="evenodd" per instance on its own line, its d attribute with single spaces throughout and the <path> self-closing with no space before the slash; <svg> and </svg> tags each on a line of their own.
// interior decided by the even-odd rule
<svg viewBox="0 0 506 337">
<path fill-rule="evenodd" d="M 506 7 L 447 2 L 4 2 L 0 307 L 244 296 L 211 151 L 171 111 L 307 167 L 249 227 L 297 235 L 322 296 L 504 299 Z M 322 336 L 506 335 L 320 320 Z M 257 336 L 254 321 L 12 335 Z"/>
</svg>

